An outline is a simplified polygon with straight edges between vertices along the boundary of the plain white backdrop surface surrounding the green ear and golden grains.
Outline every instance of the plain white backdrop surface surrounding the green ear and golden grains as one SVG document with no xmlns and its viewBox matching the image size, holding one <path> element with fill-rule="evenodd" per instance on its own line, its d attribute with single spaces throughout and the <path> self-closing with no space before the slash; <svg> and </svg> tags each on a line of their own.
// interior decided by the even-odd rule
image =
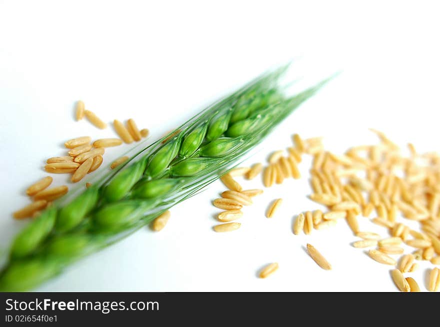
<svg viewBox="0 0 440 327">
<path fill-rule="evenodd" d="M 306 2 L 306 4 L 305 4 Z M 368 127 L 402 147 L 436 150 L 440 50 L 438 8 L 425 1 L 0 1 L 0 239 L 3 253 L 23 222 L 11 213 L 45 176 L 44 160 L 76 136 L 114 137 L 73 120 L 73 105 L 105 121 L 134 118 L 152 142 L 225 92 L 292 58 L 293 78 L 343 73 L 300 107 L 248 163 L 290 145 L 294 132 L 324 136 L 341 152 L 374 142 Z M 303 62 L 303 64 L 301 64 Z M 297 75 L 295 75 L 297 71 Z M 129 146 L 109 149 L 104 164 Z M 306 176 L 309 160 L 301 164 Z M 102 166 L 100 171 L 107 169 Z M 68 181 L 55 176 L 54 185 Z M 81 181 L 85 182 L 85 181 Z M 255 179 L 245 188 L 261 187 Z M 344 222 L 311 236 L 293 217 L 319 208 L 306 178 L 267 189 L 233 233 L 211 230 L 220 182 L 171 209 L 164 230 L 143 228 L 71 266 L 38 291 L 396 291 L 390 267 L 349 244 Z M 268 203 L 284 203 L 266 219 Z M 361 218 L 361 228 L 384 230 Z M 304 252 L 313 244 L 332 264 Z M 256 277 L 270 262 L 279 270 Z M 413 274 L 425 290 L 422 263 Z"/>
</svg>

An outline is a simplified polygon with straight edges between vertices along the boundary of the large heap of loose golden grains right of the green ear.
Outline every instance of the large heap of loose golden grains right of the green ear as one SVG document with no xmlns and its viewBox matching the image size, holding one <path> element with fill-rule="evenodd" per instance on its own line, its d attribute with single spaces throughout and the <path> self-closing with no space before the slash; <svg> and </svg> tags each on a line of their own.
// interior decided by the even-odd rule
<svg viewBox="0 0 440 327">
<path fill-rule="evenodd" d="M 403 274 L 418 268 L 414 260 L 440 264 L 440 155 L 418 154 L 410 143 L 410 155 L 405 157 L 383 133 L 372 131 L 379 138 L 378 144 L 353 146 L 341 155 L 325 150 L 322 138 L 303 140 L 295 134 L 287 156 L 282 150 L 276 150 L 269 155 L 266 167 L 256 163 L 250 168 L 236 168 L 221 180 L 235 192 L 233 199 L 237 200 L 242 194 L 248 195 L 249 191 L 242 191 L 233 177 L 251 179 L 262 171 L 263 185 L 271 187 L 286 178 L 300 178 L 298 164 L 301 157 L 311 155 L 309 178 L 312 193 L 309 198 L 326 207 L 326 211 L 299 213 L 292 226 L 293 234 L 301 231 L 310 234 L 313 229 L 329 228 L 344 220 L 358 238 L 353 241 L 353 247 L 370 248 L 368 255 L 371 259 L 398 266 L 390 271 L 397 288 L 403 292 L 418 292 L 415 280 L 405 279 Z M 278 199 L 269 205 L 266 217 L 272 217 L 280 202 Z M 242 204 L 237 201 L 222 207 L 220 199 L 213 203 L 230 210 L 239 210 L 238 206 Z M 232 215 L 235 219 L 241 216 Z M 383 227 L 387 237 L 359 230 L 361 216 Z M 419 229 L 409 228 L 405 220 L 417 222 Z M 413 253 L 405 254 L 402 244 L 413 248 Z M 314 248 L 311 251 L 315 253 Z M 400 256 L 400 259 L 392 256 Z M 434 268 L 426 288 L 435 291 L 439 283 L 438 269 Z"/>
</svg>

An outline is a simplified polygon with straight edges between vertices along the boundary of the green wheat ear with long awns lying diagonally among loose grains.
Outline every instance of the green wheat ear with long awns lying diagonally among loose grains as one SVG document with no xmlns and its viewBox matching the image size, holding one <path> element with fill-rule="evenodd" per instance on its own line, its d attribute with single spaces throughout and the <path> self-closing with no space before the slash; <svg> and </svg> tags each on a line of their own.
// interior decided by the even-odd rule
<svg viewBox="0 0 440 327">
<path fill-rule="evenodd" d="M 215 102 L 93 187 L 55 202 L 12 243 L 0 291 L 33 289 L 74 261 L 145 226 L 236 165 L 327 80 L 286 97 L 281 67 Z"/>
</svg>

